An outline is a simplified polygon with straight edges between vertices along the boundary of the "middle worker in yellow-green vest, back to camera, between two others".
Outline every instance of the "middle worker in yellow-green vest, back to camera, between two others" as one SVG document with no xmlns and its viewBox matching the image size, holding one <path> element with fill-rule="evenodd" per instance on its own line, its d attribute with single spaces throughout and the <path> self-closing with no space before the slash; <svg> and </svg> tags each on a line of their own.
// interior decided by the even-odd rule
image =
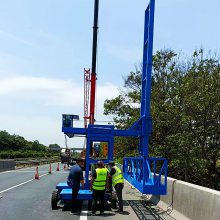
<svg viewBox="0 0 220 220">
<path fill-rule="evenodd" d="M 107 178 L 108 171 L 105 168 L 103 161 L 98 161 L 97 168 L 94 170 L 90 182 L 90 189 L 93 191 L 92 215 L 96 215 L 97 201 L 100 201 L 100 214 L 104 213 L 105 190 L 108 188 Z"/>
</svg>

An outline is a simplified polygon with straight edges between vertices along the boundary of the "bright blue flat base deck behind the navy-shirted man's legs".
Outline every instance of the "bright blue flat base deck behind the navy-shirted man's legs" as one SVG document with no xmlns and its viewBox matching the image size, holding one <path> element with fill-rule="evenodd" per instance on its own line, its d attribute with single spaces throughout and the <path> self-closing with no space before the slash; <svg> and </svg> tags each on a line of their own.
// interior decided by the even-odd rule
<svg viewBox="0 0 220 220">
<path fill-rule="evenodd" d="M 60 193 L 61 199 L 71 200 L 72 199 L 72 189 L 63 189 Z M 80 200 L 91 200 L 92 191 L 88 189 L 80 189 L 77 199 Z"/>
</svg>

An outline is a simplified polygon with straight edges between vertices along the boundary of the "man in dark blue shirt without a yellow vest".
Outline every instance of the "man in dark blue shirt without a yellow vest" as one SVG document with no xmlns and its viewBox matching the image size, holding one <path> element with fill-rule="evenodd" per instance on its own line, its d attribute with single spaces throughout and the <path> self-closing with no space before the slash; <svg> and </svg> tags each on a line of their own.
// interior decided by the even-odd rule
<svg viewBox="0 0 220 220">
<path fill-rule="evenodd" d="M 83 178 L 83 159 L 78 158 L 76 164 L 72 166 L 67 178 L 67 184 L 72 188 L 72 204 L 71 204 L 71 214 L 79 214 L 79 207 L 77 196 L 80 189 L 80 183 L 82 188 L 84 188 L 84 178 Z"/>
</svg>

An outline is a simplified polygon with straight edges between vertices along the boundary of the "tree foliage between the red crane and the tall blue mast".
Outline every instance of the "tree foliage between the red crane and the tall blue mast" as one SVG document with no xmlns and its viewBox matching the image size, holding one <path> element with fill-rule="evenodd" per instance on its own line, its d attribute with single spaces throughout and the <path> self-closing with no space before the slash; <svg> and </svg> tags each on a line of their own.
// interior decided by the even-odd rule
<svg viewBox="0 0 220 220">
<path fill-rule="evenodd" d="M 104 114 L 112 115 L 118 129 L 128 129 L 140 115 L 141 74 L 136 68 L 127 78 L 124 78 L 124 88 L 120 95 L 104 102 Z M 117 137 L 115 139 L 116 158 L 138 154 L 137 138 Z M 119 159 L 119 161 L 121 161 Z"/>
</svg>

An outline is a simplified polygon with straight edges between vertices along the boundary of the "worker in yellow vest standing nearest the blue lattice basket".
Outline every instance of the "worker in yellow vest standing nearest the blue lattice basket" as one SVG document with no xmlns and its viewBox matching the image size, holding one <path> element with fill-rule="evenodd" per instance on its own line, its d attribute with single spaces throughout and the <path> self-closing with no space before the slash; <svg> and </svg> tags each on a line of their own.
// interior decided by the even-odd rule
<svg viewBox="0 0 220 220">
<path fill-rule="evenodd" d="M 114 161 L 109 162 L 109 181 L 112 181 L 112 186 L 115 188 L 117 199 L 118 199 L 118 210 L 116 212 L 123 213 L 123 199 L 122 190 L 124 188 L 124 178 L 120 168 L 115 166 Z"/>
</svg>

